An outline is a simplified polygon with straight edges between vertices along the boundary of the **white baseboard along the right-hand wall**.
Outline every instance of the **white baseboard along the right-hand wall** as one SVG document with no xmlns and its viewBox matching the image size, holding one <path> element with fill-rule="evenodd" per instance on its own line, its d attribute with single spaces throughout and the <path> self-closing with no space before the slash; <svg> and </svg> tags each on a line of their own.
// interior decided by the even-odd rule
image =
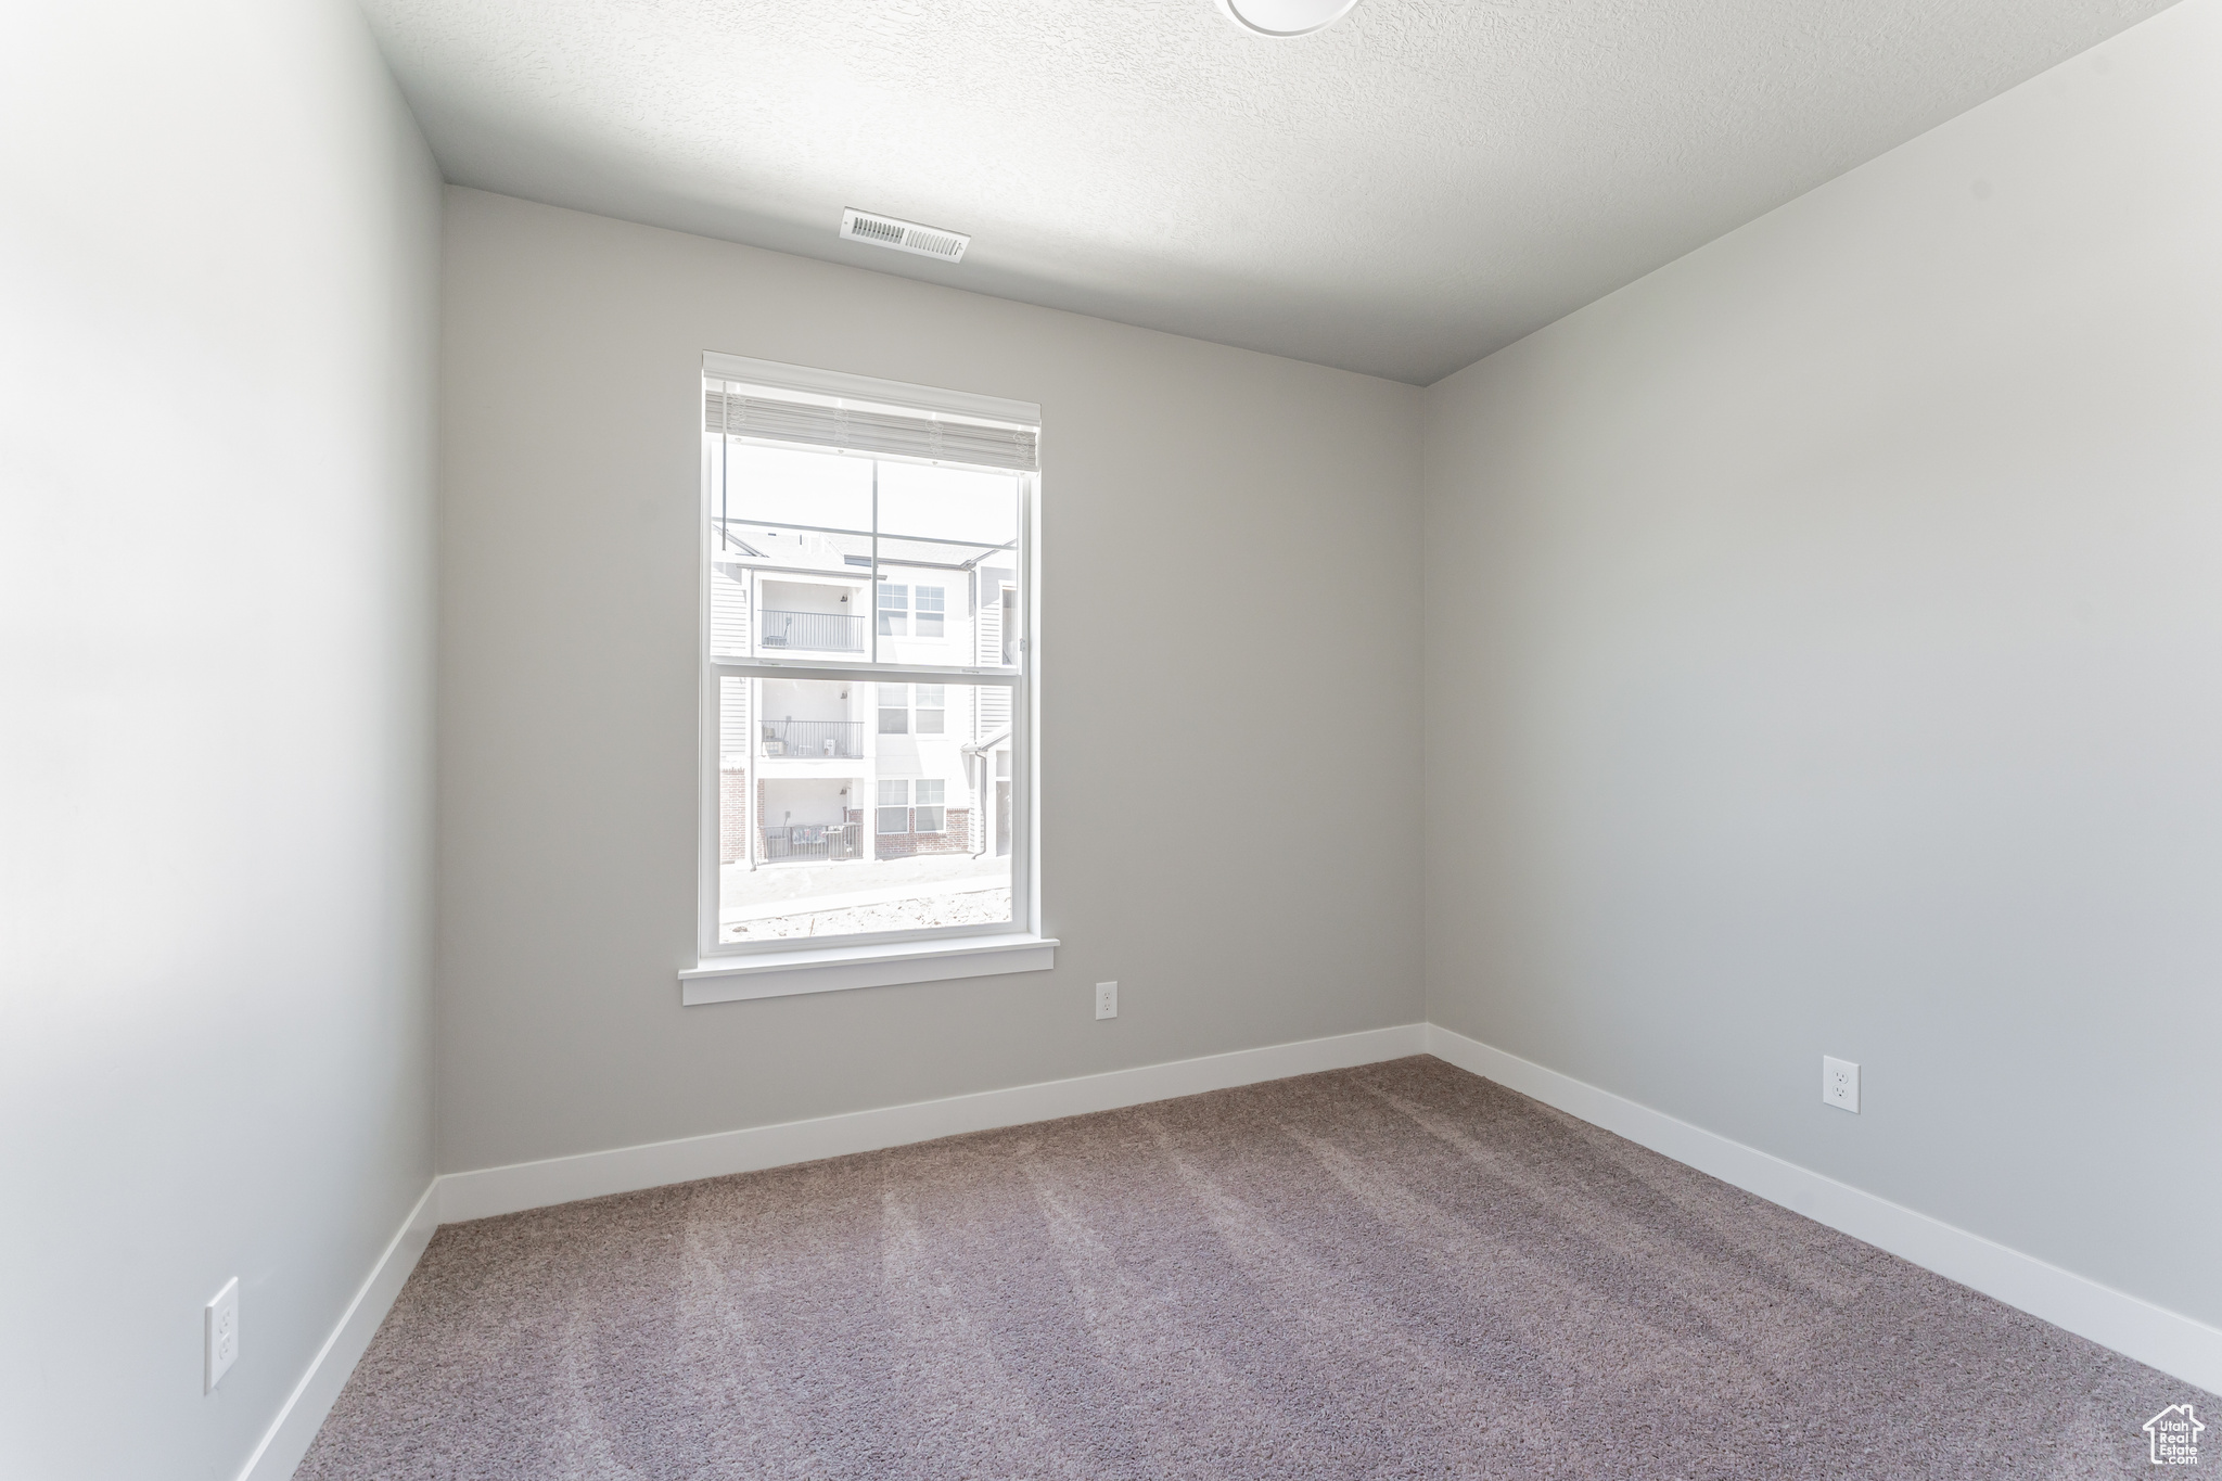
<svg viewBox="0 0 2222 1481">
<path fill-rule="evenodd" d="M 2169 1377 L 2222 1394 L 2222 1330 L 2153 1306 L 2111 1286 L 2049 1266 L 2033 1255 L 1913 1212 L 1798 1163 L 1638 1106 L 1611 1090 L 1547 1070 L 1460 1032 L 1427 1026 L 1427 1052 L 1482 1079 L 1555 1106 L 1591 1126 L 1709 1172 L 1769 1203 L 1851 1235 L 1898 1259 L 1933 1270 Z"/>
</svg>

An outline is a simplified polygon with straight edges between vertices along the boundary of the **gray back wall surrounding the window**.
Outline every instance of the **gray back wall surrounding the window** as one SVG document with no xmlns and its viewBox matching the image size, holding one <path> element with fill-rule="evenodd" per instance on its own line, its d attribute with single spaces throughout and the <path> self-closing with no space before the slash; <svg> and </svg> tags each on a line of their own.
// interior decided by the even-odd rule
<svg viewBox="0 0 2222 1481">
<path fill-rule="evenodd" d="M 464 189 L 444 313 L 442 1168 L 1420 1017 L 1420 391 Z M 1042 404 L 1055 973 L 680 1006 L 707 349 Z"/>
</svg>

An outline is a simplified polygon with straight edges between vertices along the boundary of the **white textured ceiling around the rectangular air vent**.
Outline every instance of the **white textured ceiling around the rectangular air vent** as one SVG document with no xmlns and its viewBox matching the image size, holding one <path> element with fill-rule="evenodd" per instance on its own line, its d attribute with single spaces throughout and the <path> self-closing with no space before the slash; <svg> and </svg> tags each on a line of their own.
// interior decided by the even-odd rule
<svg viewBox="0 0 2222 1481">
<path fill-rule="evenodd" d="M 1418 384 L 2164 4 L 364 0 L 460 184 Z"/>
</svg>

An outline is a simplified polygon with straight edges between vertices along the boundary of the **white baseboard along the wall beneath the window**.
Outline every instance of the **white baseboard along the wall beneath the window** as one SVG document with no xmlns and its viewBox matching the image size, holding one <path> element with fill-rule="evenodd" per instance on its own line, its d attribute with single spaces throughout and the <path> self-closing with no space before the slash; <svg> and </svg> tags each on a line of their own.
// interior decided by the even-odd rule
<svg viewBox="0 0 2222 1481">
<path fill-rule="evenodd" d="M 782 1121 L 778 1126 L 751 1126 L 733 1132 L 684 1137 L 680 1141 L 651 1141 L 609 1152 L 582 1152 L 578 1157 L 520 1161 L 476 1172 L 449 1172 L 440 1179 L 440 1223 L 489 1219 L 524 1208 L 633 1192 L 635 1188 L 689 1183 L 700 1177 L 782 1168 L 793 1161 L 818 1161 L 820 1157 L 875 1152 L 907 1141 L 931 1141 L 935 1137 L 993 1130 L 998 1126 L 1051 1121 L 1091 1110 L 1118 1110 L 1120 1106 L 1251 1086 L 1262 1079 L 1287 1079 L 1289 1075 L 1311 1075 L 1313 1070 L 1347 1070 L 1355 1064 L 1420 1055 L 1424 1046 L 1427 1024 L 1400 1024 L 1395 1028 L 1371 1028 L 1331 1039 L 1271 1044 L 1229 1055 L 1204 1055 L 1202 1059 L 1175 1059 L 1133 1070 L 1051 1079 L 1009 1090 L 951 1095 L 940 1101 L 851 1110 L 811 1121 Z"/>
</svg>

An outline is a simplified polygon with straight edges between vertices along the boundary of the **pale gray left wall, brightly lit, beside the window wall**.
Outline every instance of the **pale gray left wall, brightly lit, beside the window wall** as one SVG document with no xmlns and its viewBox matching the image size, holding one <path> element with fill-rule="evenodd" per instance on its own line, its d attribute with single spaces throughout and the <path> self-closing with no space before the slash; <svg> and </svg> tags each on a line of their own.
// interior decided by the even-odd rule
<svg viewBox="0 0 2222 1481">
<path fill-rule="evenodd" d="M 229 1481 L 431 1179 L 440 182 L 351 7 L 124 0 L 0 202 L 0 1474 Z"/>
</svg>

